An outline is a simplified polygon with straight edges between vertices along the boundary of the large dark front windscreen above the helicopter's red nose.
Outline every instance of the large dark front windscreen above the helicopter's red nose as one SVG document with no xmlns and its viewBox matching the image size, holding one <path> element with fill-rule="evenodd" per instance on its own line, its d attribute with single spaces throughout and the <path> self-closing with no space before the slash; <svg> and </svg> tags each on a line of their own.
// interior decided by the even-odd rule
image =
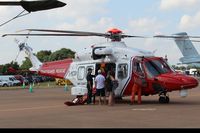
<svg viewBox="0 0 200 133">
<path fill-rule="evenodd" d="M 147 69 L 147 74 L 151 78 L 172 71 L 168 64 L 163 60 L 149 60 L 145 62 L 145 66 Z"/>
</svg>

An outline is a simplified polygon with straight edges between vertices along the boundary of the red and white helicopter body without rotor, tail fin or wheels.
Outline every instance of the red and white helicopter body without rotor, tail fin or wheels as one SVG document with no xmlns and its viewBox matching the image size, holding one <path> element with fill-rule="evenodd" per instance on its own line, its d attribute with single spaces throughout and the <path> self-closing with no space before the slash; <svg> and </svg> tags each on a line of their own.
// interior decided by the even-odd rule
<svg viewBox="0 0 200 133">
<path fill-rule="evenodd" d="M 162 57 L 152 52 L 127 47 L 123 42 L 94 45 L 77 53 L 75 59 L 44 63 L 39 74 L 70 80 L 74 86 L 86 89 L 89 68 L 93 75 L 99 69 L 115 72 L 119 86 L 116 97 L 130 96 L 135 80 L 142 85 L 142 95 L 166 94 L 172 91 L 192 89 L 198 86 L 194 77 L 176 73 Z M 141 71 L 138 72 L 137 67 Z"/>
</svg>

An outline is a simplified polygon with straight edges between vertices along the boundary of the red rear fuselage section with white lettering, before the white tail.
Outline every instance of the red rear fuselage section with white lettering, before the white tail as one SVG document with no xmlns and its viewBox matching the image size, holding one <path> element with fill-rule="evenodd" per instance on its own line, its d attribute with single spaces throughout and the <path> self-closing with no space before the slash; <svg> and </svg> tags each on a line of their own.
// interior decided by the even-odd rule
<svg viewBox="0 0 200 133">
<path fill-rule="evenodd" d="M 64 78 L 72 62 L 72 59 L 46 62 L 39 70 L 39 75 L 54 78 Z"/>
</svg>

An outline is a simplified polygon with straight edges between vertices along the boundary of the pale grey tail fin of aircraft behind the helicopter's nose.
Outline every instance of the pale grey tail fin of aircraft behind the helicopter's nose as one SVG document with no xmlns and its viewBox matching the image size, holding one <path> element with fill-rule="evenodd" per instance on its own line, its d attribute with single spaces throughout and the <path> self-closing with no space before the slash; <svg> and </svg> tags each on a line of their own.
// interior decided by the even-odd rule
<svg viewBox="0 0 200 133">
<path fill-rule="evenodd" d="M 178 36 L 175 38 L 175 42 L 184 56 L 180 59 L 180 61 L 183 64 L 200 62 L 200 55 L 194 47 L 192 41 L 189 39 L 188 34 L 186 32 L 182 32 L 174 35 Z"/>
</svg>

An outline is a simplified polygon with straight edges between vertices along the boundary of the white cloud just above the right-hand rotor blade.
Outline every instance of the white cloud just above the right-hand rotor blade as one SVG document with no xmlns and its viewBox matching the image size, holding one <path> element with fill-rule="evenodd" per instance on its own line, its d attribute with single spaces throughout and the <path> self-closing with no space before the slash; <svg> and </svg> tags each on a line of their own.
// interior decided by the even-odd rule
<svg viewBox="0 0 200 133">
<path fill-rule="evenodd" d="M 129 21 L 129 27 L 134 33 L 156 33 L 164 27 L 164 22 L 159 22 L 156 18 L 140 18 Z"/>
</svg>

